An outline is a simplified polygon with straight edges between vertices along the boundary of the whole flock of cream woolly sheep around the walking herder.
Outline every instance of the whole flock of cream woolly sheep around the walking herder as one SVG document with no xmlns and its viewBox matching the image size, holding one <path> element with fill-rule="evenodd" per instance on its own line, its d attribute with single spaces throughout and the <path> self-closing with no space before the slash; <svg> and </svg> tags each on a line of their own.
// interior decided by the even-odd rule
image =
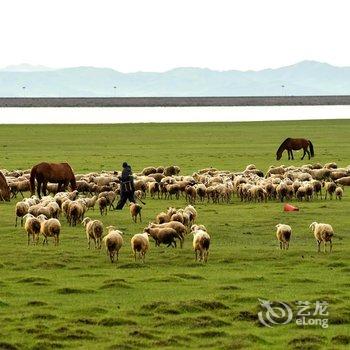
<svg viewBox="0 0 350 350">
<path fill-rule="evenodd" d="M 118 253 L 124 242 L 123 232 L 116 227 L 106 227 L 101 220 L 92 220 L 86 216 L 95 207 L 101 218 L 108 214 L 120 195 L 120 184 L 116 171 L 91 172 L 76 174 L 77 190 L 57 192 L 56 184 L 48 184 L 48 195 L 39 199 L 31 196 L 24 198 L 25 192 L 30 191 L 30 169 L 25 171 L 1 170 L 9 185 L 12 198 L 18 195 L 22 200 L 15 204 L 15 226 L 24 225 L 27 233 L 27 244 L 37 244 L 40 235 L 43 244 L 53 238 L 58 245 L 62 231 L 62 220 L 69 226 L 84 226 L 91 248 L 91 241 L 96 249 L 105 246 L 110 261 L 118 261 Z M 135 195 L 149 200 L 186 200 L 185 208 L 169 207 L 166 211 L 156 215 L 141 233 L 136 233 L 130 240 L 134 259 L 137 255 L 145 261 L 149 251 L 149 239 L 155 246 L 164 244 L 168 247 L 183 247 L 185 238 L 191 234 L 192 246 L 196 261 L 208 260 L 211 236 L 204 225 L 198 224 L 198 213 L 195 205 L 211 203 L 236 202 L 265 203 L 267 201 L 313 201 L 313 200 L 341 200 L 345 186 L 350 185 L 350 166 L 340 168 L 336 163 L 307 164 L 295 166 L 271 166 L 264 173 L 253 164 L 248 165 L 241 172 L 220 171 L 215 168 L 198 170 L 191 175 L 180 175 L 180 168 L 147 167 L 140 173 L 134 174 Z M 68 190 L 68 189 L 67 189 Z M 139 204 L 130 205 L 130 216 L 133 222 L 139 218 L 141 222 Z M 143 209 L 145 210 L 145 209 Z M 276 225 L 276 237 L 283 250 L 289 248 L 292 229 L 286 224 Z M 329 243 L 332 251 L 334 232 L 329 224 L 313 222 L 310 228 L 315 236 L 318 251 L 320 245 Z M 108 233 L 106 233 L 108 231 Z M 64 235 L 63 235 L 64 237 Z"/>
</svg>

